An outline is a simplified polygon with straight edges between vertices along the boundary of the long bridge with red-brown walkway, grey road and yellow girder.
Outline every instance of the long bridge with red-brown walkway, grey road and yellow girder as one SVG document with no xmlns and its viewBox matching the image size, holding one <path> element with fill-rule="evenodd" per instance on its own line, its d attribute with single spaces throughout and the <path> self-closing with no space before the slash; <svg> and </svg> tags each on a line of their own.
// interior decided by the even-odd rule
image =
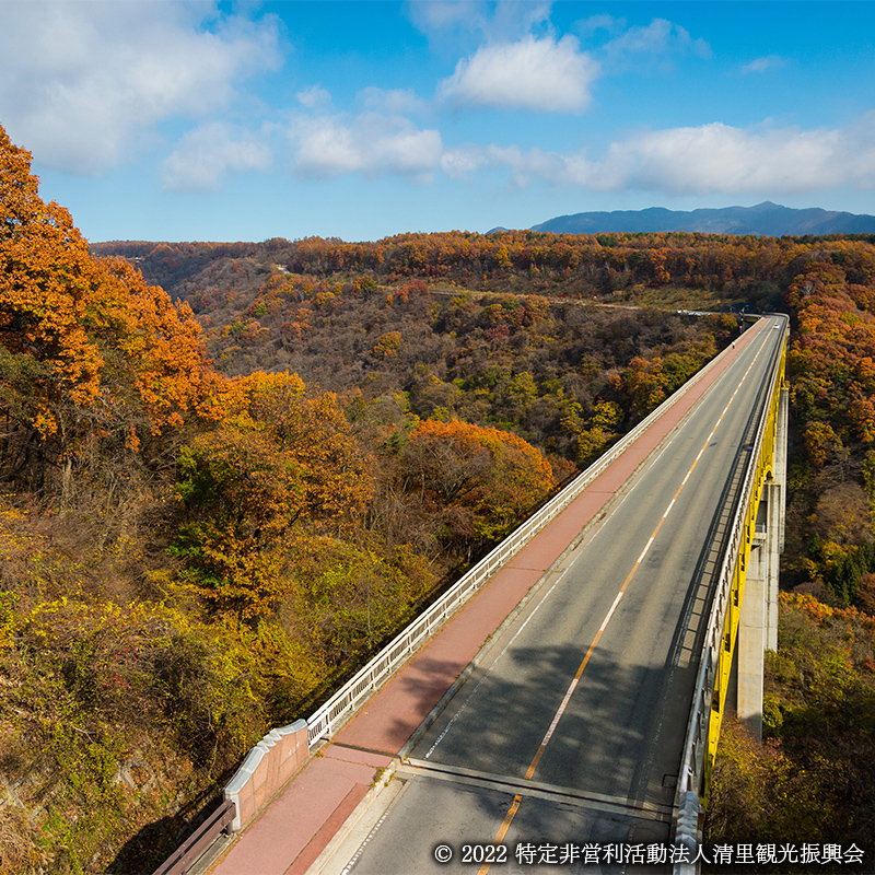
<svg viewBox="0 0 875 875">
<path fill-rule="evenodd" d="M 761 732 L 777 645 L 786 334 L 757 322 L 310 720 L 266 736 L 217 819 L 240 838 L 159 872 L 486 875 L 539 870 L 514 856 L 528 845 L 556 855 L 540 871 L 696 871 L 721 721 Z"/>
</svg>

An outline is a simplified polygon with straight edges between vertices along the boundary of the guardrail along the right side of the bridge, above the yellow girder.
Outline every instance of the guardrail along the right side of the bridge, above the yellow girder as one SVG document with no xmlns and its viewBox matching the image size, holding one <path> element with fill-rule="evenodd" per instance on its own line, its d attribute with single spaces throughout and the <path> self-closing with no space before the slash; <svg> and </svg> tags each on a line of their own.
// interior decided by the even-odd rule
<svg viewBox="0 0 875 875">
<path fill-rule="evenodd" d="M 786 345 L 789 326 L 784 325 L 783 341 Z M 705 632 L 702 656 L 699 663 L 699 672 L 696 678 L 696 691 L 693 693 L 693 707 L 690 711 L 690 719 L 687 724 L 687 737 L 684 744 L 684 759 L 681 761 L 680 781 L 678 782 L 678 793 L 675 803 L 676 817 L 676 842 L 689 845 L 695 842 L 698 847 L 700 837 L 696 827 L 692 827 L 689 813 L 692 810 L 691 793 L 695 793 L 698 801 L 699 786 L 703 778 L 705 750 L 708 748 L 708 730 L 711 719 L 711 702 L 714 696 L 714 681 L 716 678 L 720 650 L 723 646 L 723 630 L 726 621 L 726 614 L 732 596 L 732 584 L 735 575 L 735 567 L 742 552 L 743 540 L 745 537 L 745 515 L 748 513 L 750 501 L 756 487 L 757 469 L 760 464 L 762 453 L 762 442 L 768 425 L 770 410 L 774 394 L 779 392 L 781 357 L 778 357 L 772 370 L 769 383 L 769 393 L 766 396 L 766 404 L 762 406 L 759 423 L 757 424 L 756 439 L 754 446 L 757 453 L 751 453 L 748 460 L 747 470 L 740 490 L 740 501 L 735 509 L 732 521 L 732 538 L 726 545 L 723 553 L 723 561 L 720 567 L 718 587 L 714 595 L 714 604 L 711 607 L 711 619 Z M 697 820 L 698 820 L 698 806 Z M 685 817 L 680 816 L 686 813 Z M 690 863 L 676 863 L 674 875 L 692 875 L 697 872 L 696 866 Z"/>
</svg>

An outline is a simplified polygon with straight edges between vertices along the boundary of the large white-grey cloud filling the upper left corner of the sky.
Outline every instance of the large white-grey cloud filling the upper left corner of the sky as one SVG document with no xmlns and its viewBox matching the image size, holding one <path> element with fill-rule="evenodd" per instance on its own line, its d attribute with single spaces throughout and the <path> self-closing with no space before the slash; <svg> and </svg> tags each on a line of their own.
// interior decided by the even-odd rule
<svg viewBox="0 0 875 875">
<path fill-rule="evenodd" d="M 279 63 L 273 19 L 206 0 L 4 3 L 0 116 L 37 161 L 96 174 L 154 143 L 158 122 L 203 117 Z"/>
</svg>

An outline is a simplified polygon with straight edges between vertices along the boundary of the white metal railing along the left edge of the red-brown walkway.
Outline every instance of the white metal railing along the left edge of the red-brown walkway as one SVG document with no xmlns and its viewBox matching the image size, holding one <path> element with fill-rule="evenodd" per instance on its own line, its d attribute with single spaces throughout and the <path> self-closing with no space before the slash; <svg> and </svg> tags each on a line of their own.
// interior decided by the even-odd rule
<svg viewBox="0 0 875 875">
<path fill-rule="evenodd" d="M 558 495 L 530 516 L 492 552 L 460 578 L 430 608 L 413 620 L 330 699 L 307 718 L 307 743 L 312 747 L 322 738 L 330 738 L 353 712 L 392 677 L 398 668 L 436 632 L 495 572 L 513 558 L 551 520 L 558 516 L 590 483 L 610 466 L 641 434 L 663 417 L 692 388 L 704 374 L 731 352 L 726 348 L 701 368 L 690 380 L 663 401 L 621 441 L 597 459 Z"/>
</svg>

